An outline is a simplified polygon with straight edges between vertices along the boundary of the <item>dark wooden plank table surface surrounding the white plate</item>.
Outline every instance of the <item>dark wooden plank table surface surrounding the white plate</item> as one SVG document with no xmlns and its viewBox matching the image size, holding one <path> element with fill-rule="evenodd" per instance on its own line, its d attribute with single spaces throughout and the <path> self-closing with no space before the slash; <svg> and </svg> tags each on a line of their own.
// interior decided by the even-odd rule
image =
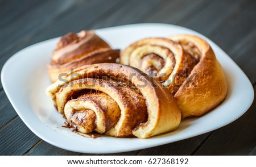
<svg viewBox="0 0 256 167">
<path fill-rule="evenodd" d="M 0 0 L 0 66 L 28 45 L 133 23 L 170 23 L 212 39 L 256 89 L 256 1 Z M 18 84 L 18 83 L 17 83 Z M 242 105 L 242 104 L 241 104 Z M 86 155 L 46 143 L 20 120 L 0 85 L 0 155 Z M 111 155 L 256 155 L 256 103 L 235 122 L 175 143 Z"/>
</svg>

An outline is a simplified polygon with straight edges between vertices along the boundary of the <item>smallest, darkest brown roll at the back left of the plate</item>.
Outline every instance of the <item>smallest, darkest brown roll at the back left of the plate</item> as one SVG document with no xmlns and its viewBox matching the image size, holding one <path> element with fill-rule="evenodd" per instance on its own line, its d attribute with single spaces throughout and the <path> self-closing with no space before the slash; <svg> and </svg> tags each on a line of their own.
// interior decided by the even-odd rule
<svg viewBox="0 0 256 167">
<path fill-rule="evenodd" d="M 69 33 L 60 38 L 48 65 L 52 82 L 58 80 L 59 74 L 70 73 L 71 68 L 101 62 L 115 62 L 119 50 L 113 50 L 109 44 L 94 34 L 93 31 Z"/>
</svg>

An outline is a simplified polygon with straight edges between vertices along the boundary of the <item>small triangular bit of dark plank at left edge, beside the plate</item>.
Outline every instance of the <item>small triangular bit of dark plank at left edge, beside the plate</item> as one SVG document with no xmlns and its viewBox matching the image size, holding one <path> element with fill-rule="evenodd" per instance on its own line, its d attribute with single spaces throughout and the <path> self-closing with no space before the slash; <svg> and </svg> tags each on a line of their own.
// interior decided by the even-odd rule
<svg viewBox="0 0 256 167">
<path fill-rule="evenodd" d="M 17 116 L 3 89 L 0 90 L 0 111 L 0 128 Z"/>
</svg>

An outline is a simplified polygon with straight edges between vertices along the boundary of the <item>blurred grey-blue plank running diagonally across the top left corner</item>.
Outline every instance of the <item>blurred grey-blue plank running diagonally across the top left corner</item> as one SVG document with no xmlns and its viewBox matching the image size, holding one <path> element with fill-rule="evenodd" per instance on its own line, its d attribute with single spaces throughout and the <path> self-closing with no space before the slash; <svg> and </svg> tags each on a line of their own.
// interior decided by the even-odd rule
<svg viewBox="0 0 256 167">
<path fill-rule="evenodd" d="M 10 48 L 20 43 L 20 39 L 27 39 L 28 34 L 36 34 L 38 30 L 50 24 L 56 16 L 74 6 L 75 2 L 68 0 L 45 1 L 42 5 L 35 6 L 32 10 L 24 13 L 16 22 L 1 27 L 0 46 L 2 49 L 0 53 L 9 51 Z"/>
</svg>

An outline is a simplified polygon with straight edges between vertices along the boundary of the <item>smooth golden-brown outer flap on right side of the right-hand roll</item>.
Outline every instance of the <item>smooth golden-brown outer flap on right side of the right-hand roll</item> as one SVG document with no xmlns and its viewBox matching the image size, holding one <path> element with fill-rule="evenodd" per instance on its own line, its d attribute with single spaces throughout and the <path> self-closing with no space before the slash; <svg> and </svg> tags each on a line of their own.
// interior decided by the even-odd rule
<svg viewBox="0 0 256 167">
<path fill-rule="evenodd" d="M 175 94 L 183 117 L 201 116 L 220 105 L 227 93 L 227 83 L 221 65 L 210 45 L 192 35 L 170 36 L 187 55 L 199 59 L 187 81 Z"/>
</svg>

